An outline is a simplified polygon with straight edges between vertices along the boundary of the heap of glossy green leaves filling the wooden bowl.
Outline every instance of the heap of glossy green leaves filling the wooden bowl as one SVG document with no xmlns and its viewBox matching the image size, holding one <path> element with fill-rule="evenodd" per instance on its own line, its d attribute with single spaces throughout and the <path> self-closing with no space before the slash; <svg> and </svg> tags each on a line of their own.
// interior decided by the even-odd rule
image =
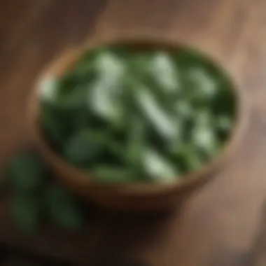
<svg viewBox="0 0 266 266">
<path fill-rule="evenodd" d="M 194 51 L 100 48 L 43 80 L 40 119 L 59 156 L 99 181 L 174 181 L 223 147 L 231 89 Z"/>
</svg>

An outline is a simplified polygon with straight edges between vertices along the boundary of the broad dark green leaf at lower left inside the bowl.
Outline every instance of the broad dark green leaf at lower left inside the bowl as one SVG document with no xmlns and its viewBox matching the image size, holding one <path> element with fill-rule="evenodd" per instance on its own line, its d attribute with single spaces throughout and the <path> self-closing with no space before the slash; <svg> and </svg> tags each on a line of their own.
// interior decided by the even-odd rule
<svg viewBox="0 0 266 266">
<path fill-rule="evenodd" d="M 64 158 L 77 167 L 89 167 L 108 143 L 106 134 L 83 129 L 69 139 L 64 148 Z"/>
</svg>

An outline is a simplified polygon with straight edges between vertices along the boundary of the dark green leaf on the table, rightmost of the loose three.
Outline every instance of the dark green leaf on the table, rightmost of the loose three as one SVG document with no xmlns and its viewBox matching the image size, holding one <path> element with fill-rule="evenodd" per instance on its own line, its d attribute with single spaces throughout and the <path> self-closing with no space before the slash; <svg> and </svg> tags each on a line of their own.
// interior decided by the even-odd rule
<svg viewBox="0 0 266 266">
<path fill-rule="evenodd" d="M 84 224 L 83 210 L 64 188 L 49 186 L 44 192 L 44 202 L 50 221 L 59 228 L 79 230 Z"/>
</svg>

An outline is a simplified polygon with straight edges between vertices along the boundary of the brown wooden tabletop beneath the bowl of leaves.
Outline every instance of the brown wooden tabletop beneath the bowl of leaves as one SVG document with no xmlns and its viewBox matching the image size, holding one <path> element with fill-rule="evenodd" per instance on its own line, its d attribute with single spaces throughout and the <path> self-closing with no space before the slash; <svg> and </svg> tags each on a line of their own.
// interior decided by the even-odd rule
<svg viewBox="0 0 266 266">
<path fill-rule="evenodd" d="M 141 266 L 141 261 L 147 266 L 266 265 L 265 0 L 0 4 L 1 162 L 30 142 L 25 107 L 38 71 L 62 48 L 94 34 L 145 29 L 209 52 L 234 77 L 248 119 L 244 139 L 227 167 L 172 213 L 97 211 L 82 235 L 46 228 L 31 239 L 13 230 L 7 200 L 2 200 L 0 240 L 95 266 Z"/>
</svg>

